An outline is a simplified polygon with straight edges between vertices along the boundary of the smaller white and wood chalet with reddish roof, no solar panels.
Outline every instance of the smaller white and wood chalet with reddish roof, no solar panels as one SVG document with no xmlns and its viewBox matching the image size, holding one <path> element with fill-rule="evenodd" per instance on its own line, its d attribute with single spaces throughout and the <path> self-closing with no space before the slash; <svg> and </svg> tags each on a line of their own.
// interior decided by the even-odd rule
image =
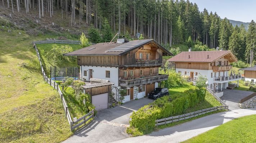
<svg viewBox="0 0 256 143">
<path fill-rule="evenodd" d="M 181 52 L 168 60 L 175 64 L 175 70 L 196 81 L 199 75 L 206 76 L 209 88 L 219 97 L 223 95 L 223 88 L 228 82 L 240 80 L 241 75 L 229 75 L 232 69 L 229 64 L 237 61 L 231 51 L 191 51 Z"/>
</svg>

